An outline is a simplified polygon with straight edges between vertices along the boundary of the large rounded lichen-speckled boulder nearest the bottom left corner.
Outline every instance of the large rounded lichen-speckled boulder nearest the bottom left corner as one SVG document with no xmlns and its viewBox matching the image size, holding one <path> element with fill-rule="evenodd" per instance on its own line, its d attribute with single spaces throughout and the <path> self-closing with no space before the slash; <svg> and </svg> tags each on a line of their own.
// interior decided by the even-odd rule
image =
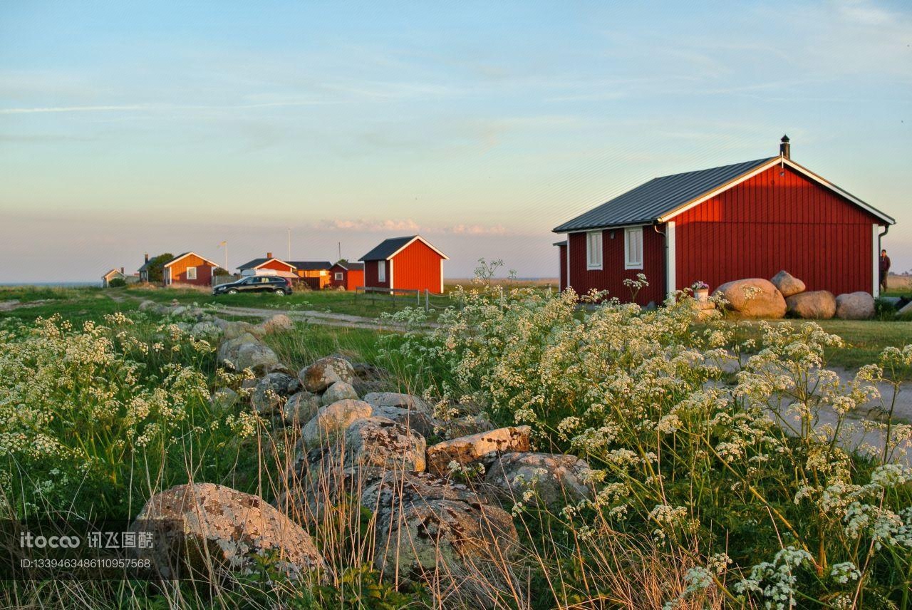
<svg viewBox="0 0 912 610">
<path fill-rule="evenodd" d="M 162 576 L 182 565 L 197 577 L 251 574 L 257 558 L 275 557 L 275 567 L 292 577 L 326 571 L 326 563 L 307 532 L 257 496 L 222 485 L 178 485 L 150 498 L 137 521 L 161 523 L 161 538 L 140 549 Z"/>
</svg>

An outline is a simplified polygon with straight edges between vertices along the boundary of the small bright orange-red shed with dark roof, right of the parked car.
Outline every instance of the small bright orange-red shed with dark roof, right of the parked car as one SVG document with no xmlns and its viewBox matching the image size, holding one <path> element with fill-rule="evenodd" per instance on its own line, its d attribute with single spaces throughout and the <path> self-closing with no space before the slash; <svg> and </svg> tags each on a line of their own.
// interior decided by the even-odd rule
<svg viewBox="0 0 912 610">
<path fill-rule="evenodd" d="M 449 257 L 420 235 L 391 237 L 361 257 L 364 285 L 443 292 L 443 261 Z"/>
</svg>

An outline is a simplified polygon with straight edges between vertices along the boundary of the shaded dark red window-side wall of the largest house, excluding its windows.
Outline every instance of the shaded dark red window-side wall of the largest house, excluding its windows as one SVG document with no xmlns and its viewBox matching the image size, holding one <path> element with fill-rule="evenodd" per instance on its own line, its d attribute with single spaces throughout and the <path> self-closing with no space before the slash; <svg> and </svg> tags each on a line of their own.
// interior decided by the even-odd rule
<svg viewBox="0 0 912 610">
<path fill-rule="evenodd" d="M 614 233 L 614 239 L 611 234 Z M 586 269 L 586 233 L 571 233 L 568 236 L 570 255 L 570 287 L 579 295 L 595 288 L 607 290 L 608 297 L 617 296 L 621 301 L 630 301 L 630 289 L 624 285 L 627 278 L 636 279 L 645 274 L 649 285 L 637 293 L 637 303 L 646 305 L 649 301 L 661 303 L 665 300 L 665 236 L 657 233 L 651 225 L 643 227 L 643 268 L 624 268 L 624 229 L 606 229 L 602 232 L 602 269 Z"/>
</svg>

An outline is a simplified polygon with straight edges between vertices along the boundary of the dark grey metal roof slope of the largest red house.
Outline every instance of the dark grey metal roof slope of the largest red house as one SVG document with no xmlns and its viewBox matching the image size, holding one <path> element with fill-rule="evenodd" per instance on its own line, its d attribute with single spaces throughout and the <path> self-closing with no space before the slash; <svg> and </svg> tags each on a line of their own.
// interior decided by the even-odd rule
<svg viewBox="0 0 912 610">
<path fill-rule="evenodd" d="M 734 165 L 723 165 L 710 170 L 687 171 L 653 178 L 640 184 L 637 188 L 618 195 L 611 201 L 602 203 L 597 208 L 555 227 L 554 233 L 570 233 L 627 224 L 651 224 L 679 206 L 777 158 L 767 157 Z"/>
</svg>

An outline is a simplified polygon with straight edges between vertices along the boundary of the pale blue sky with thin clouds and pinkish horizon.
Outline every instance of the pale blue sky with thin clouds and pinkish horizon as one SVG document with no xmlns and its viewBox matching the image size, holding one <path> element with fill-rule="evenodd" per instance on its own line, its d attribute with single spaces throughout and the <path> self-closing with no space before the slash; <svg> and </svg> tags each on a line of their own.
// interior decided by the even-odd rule
<svg viewBox="0 0 912 610">
<path fill-rule="evenodd" d="M 422 233 L 453 277 L 553 276 L 556 224 L 783 132 L 912 268 L 909 5 L 436 4 L 0 4 L 0 282 L 288 228 L 295 259 Z"/>
</svg>

